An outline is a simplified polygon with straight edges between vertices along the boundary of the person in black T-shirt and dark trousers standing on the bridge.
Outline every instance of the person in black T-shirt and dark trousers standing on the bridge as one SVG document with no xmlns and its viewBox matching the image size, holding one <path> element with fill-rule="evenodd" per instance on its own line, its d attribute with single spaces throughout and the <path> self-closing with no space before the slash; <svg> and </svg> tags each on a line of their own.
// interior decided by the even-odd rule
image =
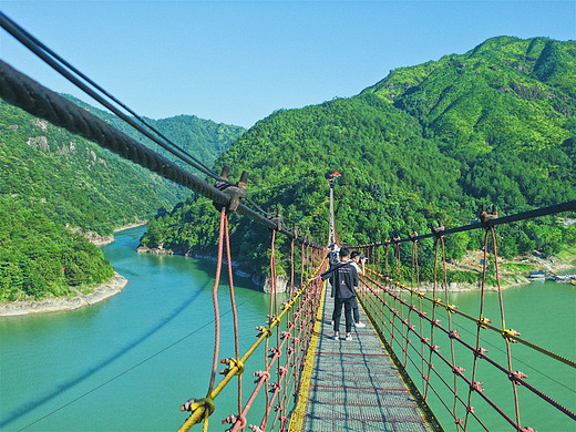
<svg viewBox="0 0 576 432">
<path fill-rule="evenodd" d="M 340 249 L 340 263 L 333 266 L 330 270 L 320 275 L 322 280 L 330 278 L 335 297 L 333 318 L 333 339 L 339 339 L 340 332 L 340 317 L 342 315 L 342 306 L 344 308 L 346 318 L 346 338 L 344 340 L 352 340 L 352 305 L 356 299 L 354 287 L 358 287 L 358 271 L 356 267 L 348 263 L 350 250 L 346 247 Z"/>
</svg>

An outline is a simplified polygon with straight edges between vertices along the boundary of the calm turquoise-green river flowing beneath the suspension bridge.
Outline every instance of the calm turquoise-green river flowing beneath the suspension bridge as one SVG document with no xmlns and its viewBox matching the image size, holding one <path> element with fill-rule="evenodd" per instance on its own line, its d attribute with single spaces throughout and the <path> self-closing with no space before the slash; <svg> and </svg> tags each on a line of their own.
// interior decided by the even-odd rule
<svg viewBox="0 0 576 432">
<path fill-rule="evenodd" d="M 187 418 L 179 405 L 191 397 L 206 395 L 214 349 L 215 265 L 179 256 L 136 254 L 144 229 L 119 233 L 113 244 L 103 247 L 116 271 L 130 280 L 121 294 L 73 311 L 0 319 L 0 430 L 174 431 Z M 235 279 L 235 291 L 240 352 L 245 352 L 256 340 L 254 328 L 266 320 L 269 297 L 241 278 Z M 227 292 L 220 288 L 220 358 L 234 356 Z M 497 323 L 495 299 L 494 294 L 488 296 L 492 316 L 486 316 Z M 475 292 L 460 292 L 451 301 L 477 313 Z M 512 288 L 505 291 L 505 301 L 507 327 L 576 358 L 576 290 L 569 285 L 535 282 Z M 474 326 L 461 329 L 474 331 Z M 574 409 L 573 371 L 559 372 L 526 361 L 523 347 L 513 349 L 518 353 L 517 369 L 552 382 L 551 391 L 559 391 L 563 400 L 572 397 L 569 408 Z M 247 364 L 245 394 L 254 388 L 251 372 L 263 369 L 263 363 L 257 356 Z M 510 383 L 507 393 L 508 388 Z M 235 412 L 236 391 L 234 384 L 216 399 L 210 430 L 227 429 L 220 420 Z M 559 421 L 551 424 L 574 424 Z M 452 424 L 445 428 L 453 430 Z"/>
</svg>

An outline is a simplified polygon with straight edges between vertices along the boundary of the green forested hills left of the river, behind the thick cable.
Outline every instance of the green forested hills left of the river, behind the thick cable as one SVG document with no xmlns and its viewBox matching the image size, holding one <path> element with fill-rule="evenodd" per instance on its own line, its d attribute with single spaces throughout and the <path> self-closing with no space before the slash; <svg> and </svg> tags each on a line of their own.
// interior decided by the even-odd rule
<svg viewBox="0 0 576 432">
<path fill-rule="evenodd" d="M 111 114 L 81 104 L 121 125 Z M 244 132 L 193 116 L 148 121 L 205 164 L 212 164 Z M 138 138 L 125 125 L 122 128 Z M 189 195 L 3 101 L 0 167 L 0 300 L 66 295 L 71 287 L 110 279 L 112 266 L 79 232 L 109 235 L 128 223 L 147 220 Z"/>
</svg>

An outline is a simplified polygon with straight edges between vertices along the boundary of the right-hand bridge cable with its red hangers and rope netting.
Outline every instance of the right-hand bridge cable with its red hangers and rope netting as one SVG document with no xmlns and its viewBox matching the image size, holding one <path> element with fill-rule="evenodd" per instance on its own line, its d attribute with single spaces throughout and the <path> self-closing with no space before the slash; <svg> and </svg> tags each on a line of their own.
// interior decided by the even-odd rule
<svg viewBox="0 0 576 432">
<path fill-rule="evenodd" d="M 556 214 L 556 213 L 565 212 L 565 210 L 572 210 L 572 209 L 575 209 L 575 204 L 576 204 L 576 202 L 563 203 L 563 204 L 546 207 L 546 208 L 526 212 L 524 214 L 512 215 L 512 216 L 506 217 L 506 219 L 508 222 L 516 222 L 516 220 L 523 220 L 523 219 L 528 218 L 534 215 L 542 216 L 542 215 Z M 377 316 L 372 316 L 371 320 L 374 322 L 374 326 L 382 327 L 381 335 L 383 335 L 384 328 L 388 328 L 388 331 L 390 332 L 389 340 L 390 340 L 391 347 L 394 342 L 394 339 L 397 339 L 394 337 L 394 332 L 402 331 L 402 339 L 403 339 L 402 344 L 399 346 L 399 348 L 398 348 L 402 351 L 401 364 L 405 368 L 407 361 L 408 361 L 411 366 L 415 367 L 416 371 L 419 371 L 419 372 L 422 371 L 421 372 L 421 376 L 423 379 L 422 388 L 424 389 L 424 392 L 426 393 L 429 391 L 432 391 L 435 394 L 438 400 L 444 405 L 444 408 L 450 412 L 451 416 L 453 418 L 456 430 L 461 430 L 461 429 L 466 430 L 467 428 L 471 428 L 470 426 L 471 419 L 474 419 L 474 421 L 476 421 L 477 424 L 482 429 L 484 429 L 486 431 L 488 430 L 488 426 L 483 423 L 483 421 L 479 418 L 477 413 L 475 413 L 474 407 L 472 407 L 472 404 L 471 404 L 472 399 L 473 399 L 472 394 L 475 394 L 476 397 L 480 397 L 484 402 L 486 402 L 493 410 L 495 410 L 495 412 L 497 412 L 501 415 L 501 418 L 504 419 L 513 428 L 517 429 L 518 431 L 524 431 L 524 432 L 532 431 L 533 432 L 533 430 L 529 426 L 521 425 L 520 400 L 518 400 L 518 391 L 517 391 L 518 385 L 521 388 L 525 388 L 533 394 L 541 398 L 541 400 L 549 403 L 552 407 L 554 407 L 558 411 L 563 412 L 564 414 L 568 415 L 569 418 L 576 420 L 576 414 L 574 412 L 572 412 L 566 407 L 558 403 L 551 397 L 544 394 L 541 390 L 538 390 L 537 388 L 535 388 L 534 385 L 532 385 L 527 381 L 525 381 L 524 379 L 527 378 L 526 374 L 524 374 L 521 371 L 513 370 L 513 366 L 512 366 L 513 356 L 512 356 L 511 343 L 515 343 L 515 342 L 521 342 L 521 343 L 525 344 L 526 347 L 529 347 L 529 348 L 534 349 L 535 351 L 544 353 L 569 367 L 574 368 L 574 367 L 576 367 L 576 363 L 572 360 L 565 359 L 562 356 L 558 356 L 548 350 L 545 350 L 542 347 L 538 347 L 532 342 L 522 340 L 518 337 L 520 333 L 517 331 L 507 328 L 506 322 L 505 322 L 505 316 L 504 316 L 504 301 L 503 301 L 503 297 L 502 297 L 500 263 L 498 263 L 498 256 L 497 256 L 497 240 L 496 240 L 496 236 L 495 236 L 495 232 L 494 232 L 494 227 L 496 225 L 501 225 L 502 223 L 498 222 L 498 219 L 496 219 L 495 217 L 497 217 L 497 214 L 495 214 L 493 212 L 492 215 L 487 215 L 487 217 L 483 218 L 481 224 L 476 224 L 473 228 L 471 228 L 471 229 L 484 228 L 484 230 L 485 230 L 484 247 L 483 247 L 484 259 L 483 259 L 483 268 L 482 268 L 480 318 L 471 317 L 470 315 L 457 310 L 456 306 L 450 305 L 450 302 L 449 302 L 446 253 L 445 253 L 445 245 L 444 245 L 443 237 L 445 234 L 453 234 L 453 233 L 462 232 L 465 229 L 463 229 L 463 227 L 457 227 L 457 228 L 453 228 L 451 230 L 444 230 L 443 227 L 440 227 L 440 228 L 433 228 L 433 232 L 431 235 L 416 236 L 414 233 L 413 235 L 409 235 L 409 238 L 405 238 L 405 239 L 394 238 L 390 241 L 387 240 L 387 241 L 382 243 L 382 245 L 385 245 L 385 247 L 387 247 L 385 248 L 387 254 L 385 254 L 384 263 L 383 263 L 384 272 L 388 272 L 388 266 L 389 266 L 388 246 L 391 244 L 394 244 L 394 258 L 395 258 L 394 264 L 395 265 L 394 265 L 394 269 L 392 270 L 393 276 L 385 277 L 384 275 L 380 275 L 380 272 L 372 270 L 372 269 L 368 269 L 368 272 L 374 274 L 377 277 L 384 276 L 384 281 L 387 284 L 391 284 L 391 285 L 388 288 L 380 286 L 379 289 L 383 290 L 383 295 L 392 296 L 392 298 L 390 299 L 390 301 L 381 298 L 381 305 L 385 306 L 389 310 L 388 323 L 384 322 L 383 316 L 381 315 L 382 308 L 381 307 L 379 308 L 378 306 L 371 306 L 370 308 L 368 308 L 372 312 L 376 311 L 378 313 Z M 466 228 L 466 227 L 464 227 L 464 228 Z M 434 254 L 435 257 L 434 257 L 434 267 L 433 267 L 432 298 L 429 298 L 423 292 L 419 291 L 420 284 L 418 280 L 419 279 L 419 277 L 418 277 L 418 274 L 419 274 L 418 266 L 419 265 L 418 265 L 416 240 L 419 238 L 425 238 L 425 237 L 431 237 L 431 236 L 434 236 L 436 238 L 436 241 L 435 241 L 435 254 Z M 488 245 L 488 238 L 492 239 L 492 245 L 493 245 L 492 249 L 493 249 L 494 256 L 491 259 L 494 259 L 495 284 L 496 284 L 496 290 L 497 290 L 497 295 L 498 295 L 500 316 L 501 316 L 501 326 L 500 327 L 491 325 L 492 321 L 488 320 L 484 316 L 485 287 L 487 284 L 487 263 L 488 263 L 487 254 L 491 250 L 490 245 Z M 411 240 L 413 243 L 412 277 L 411 277 L 411 287 L 407 288 L 401 284 L 402 271 L 398 268 L 398 263 L 399 263 L 398 245 L 399 245 L 399 243 L 409 241 L 409 240 Z M 363 248 L 364 253 L 368 255 L 369 254 L 368 248 L 370 248 L 371 245 L 361 245 L 361 246 L 352 246 L 352 247 Z M 443 285 L 443 291 L 444 291 L 444 296 L 443 296 L 444 305 L 442 305 L 442 300 L 436 297 L 436 286 L 439 284 L 439 279 L 440 279 L 439 275 L 436 274 L 436 270 L 439 269 L 440 250 L 441 250 L 441 255 L 442 255 L 442 258 L 441 258 L 442 259 L 442 270 L 443 270 L 442 285 Z M 372 253 L 372 255 L 373 255 L 373 253 Z M 378 267 L 379 264 L 380 263 L 377 263 L 376 267 Z M 416 276 L 414 277 L 414 275 L 416 275 Z M 418 287 L 416 289 L 414 289 L 414 278 L 416 279 L 416 287 Z M 364 282 L 363 279 L 361 279 L 361 280 L 362 280 L 362 284 L 364 284 L 364 286 L 372 292 L 372 296 L 369 296 L 367 298 L 364 290 L 360 290 L 359 292 L 361 294 L 363 301 L 370 302 L 376 298 L 380 298 L 378 292 L 376 290 L 373 290 L 373 288 L 371 288 L 369 285 L 367 285 L 367 282 Z M 378 286 L 378 282 L 376 282 L 374 280 L 371 280 L 371 282 Z M 395 290 L 398 288 L 400 288 L 400 292 L 395 294 Z M 410 291 L 411 298 L 409 299 L 409 301 L 407 301 L 405 299 L 402 298 L 403 290 Z M 415 304 L 412 300 L 413 295 L 418 295 L 418 297 L 419 297 L 418 310 L 415 309 Z M 426 312 L 422 311 L 422 299 L 429 300 L 432 304 L 432 316 L 431 317 L 428 317 Z M 401 308 L 400 311 L 398 310 L 398 307 Z M 446 309 L 448 328 L 444 328 L 440 325 L 440 319 L 438 319 L 439 318 L 438 311 L 440 311 L 441 309 L 439 309 L 439 307 L 441 307 L 441 309 L 444 309 L 444 308 Z M 407 310 L 408 310 L 408 317 L 405 319 L 404 319 L 404 315 L 403 315 L 403 308 L 407 308 Z M 416 327 L 411 323 L 412 311 L 418 312 L 418 315 L 420 316 L 420 321 L 421 321 L 420 333 L 416 331 Z M 452 316 L 456 316 L 456 315 L 462 316 L 463 318 L 470 319 L 476 323 L 475 347 L 471 346 L 470 343 L 462 340 L 461 335 L 459 333 L 459 330 L 454 328 L 453 321 L 452 321 Z M 376 321 L 374 321 L 374 319 L 376 319 Z M 402 329 L 398 328 L 398 326 L 395 325 L 395 320 L 400 321 L 399 323 L 401 326 L 403 326 Z M 423 335 L 422 323 L 424 320 L 430 323 L 430 339 Z M 404 335 L 404 329 L 408 330 L 408 333 L 405 333 L 405 335 Z M 436 346 L 438 339 L 440 337 L 440 335 L 435 335 L 438 332 L 436 329 L 440 330 L 442 336 L 449 337 L 450 352 L 451 352 L 449 357 L 443 356 L 440 352 L 440 347 Z M 482 329 L 488 329 L 488 330 L 496 331 L 504 338 L 505 347 L 506 347 L 505 351 L 503 351 L 506 354 L 506 361 L 504 362 L 504 364 L 500 364 L 497 361 L 495 361 L 492 358 L 486 356 L 487 350 L 482 348 L 480 344 Z M 410 331 L 414 332 L 414 335 L 416 335 L 421 339 L 421 348 L 420 348 L 420 351 L 421 351 L 420 357 L 421 357 L 421 361 L 422 361 L 421 369 L 419 369 L 418 363 L 415 361 L 413 361 L 411 358 L 412 351 L 410 351 L 410 350 L 414 350 L 414 352 L 418 352 L 419 350 L 410 341 L 410 335 L 409 335 Z M 436 339 L 436 341 L 434 341 L 434 339 Z M 467 350 L 473 352 L 473 359 L 472 359 L 473 369 L 472 369 L 472 379 L 471 380 L 469 380 L 463 374 L 464 368 L 459 367 L 456 363 L 456 357 L 455 357 L 456 342 L 457 342 L 457 344 L 465 347 Z M 423 357 L 424 346 L 430 350 L 430 357 L 429 357 L 428 361 L 424 361 L 424 357 Z M 407 351 L 409 351 L 409 352 L 407 352 Z M 442 360 L 442 363 L 450 368 L 450 370 L 452 371 L 452 374 L 453 374 L 452 384 L 449 382 L 450 380 L 443 378 L 443 376 L 441 374 L 441 372 L 438 368 L 434 368 L 433 362 L 432 362 L 433 357 L 440 358 Z M 491 400 L 485 394 L 484 389 L 482 387 L 483 382 L 480 381 L 482 378 L 480 378 L 480 376 L 479 376 L 477 360 L 484 360 L 490 366 L 494 367 L 497 371 L 504 373 L 507 377 L 507 379 L 511 381 L 512 390 L 513 390 L 512 405 L 514 407 L 514 414 L 508 415 L 501 407 L 498 407 L 498 404 L 495 401 Z M 423 372 L 424 364 L 428 366 L 428 373 Z M 430 381 L 430 379 L 432 378 L 431 377 L 432 374 L 434 376 L 435 379 L 438 379 L 443 385 L 445 385 L 452 392 L 453 403 L 451 404 L 451 407 L 449 407 L 449 404 L 446 404 L 442 400 L 442 395 L 440 392 L 441 389 L 436 389 L 435 385 L 433 385 L 432 382 Z M 470 389 L 466 391 L 467 401 L 465 401 L 464 398 L 459 394 L 459 380 L 461 380 L 461 379 L 465 383 L 464 388 L 467 387 Z M 465 409 L 464 416 L 459 415 L 459 409 L 461 405 Z"/>
</svg>

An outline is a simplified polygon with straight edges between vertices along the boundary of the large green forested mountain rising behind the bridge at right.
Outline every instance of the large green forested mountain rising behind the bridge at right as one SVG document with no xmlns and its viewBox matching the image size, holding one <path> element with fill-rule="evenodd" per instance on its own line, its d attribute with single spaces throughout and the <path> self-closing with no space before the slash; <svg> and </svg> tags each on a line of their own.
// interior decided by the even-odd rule
<svg viewBox="0 0 576 432">
<path fill-rule="evenodd" d="M 481 204 L 503 215 L 576 199 L 575 84 L 576 42 L 493 38 L 464 54 L 391 71 L 357 96 L 277 111 L 240 136 L 215 169 L 230 165 L 232 178 L 248 171 L 248 192 L 264 208 L 279 205 L 289 225 L 318 239 L 328 229 L 326 174 L 338 169 L 343 244 L 428 233 L 438 219 L 466 224 Z M 232 224 L 233 247 L 258 268 L 267 246 L 255 225 Z M 215 229 L 214 209 L 192 197 L 151 223 L 142 243 L 214 251 Z M 553 218 L 500 229 L 506 256 L 554 253 L 576 240 L 574 226 Z M 446 241 L 455 257 L 479 247 L 467 234 Z"/>
</svg>

